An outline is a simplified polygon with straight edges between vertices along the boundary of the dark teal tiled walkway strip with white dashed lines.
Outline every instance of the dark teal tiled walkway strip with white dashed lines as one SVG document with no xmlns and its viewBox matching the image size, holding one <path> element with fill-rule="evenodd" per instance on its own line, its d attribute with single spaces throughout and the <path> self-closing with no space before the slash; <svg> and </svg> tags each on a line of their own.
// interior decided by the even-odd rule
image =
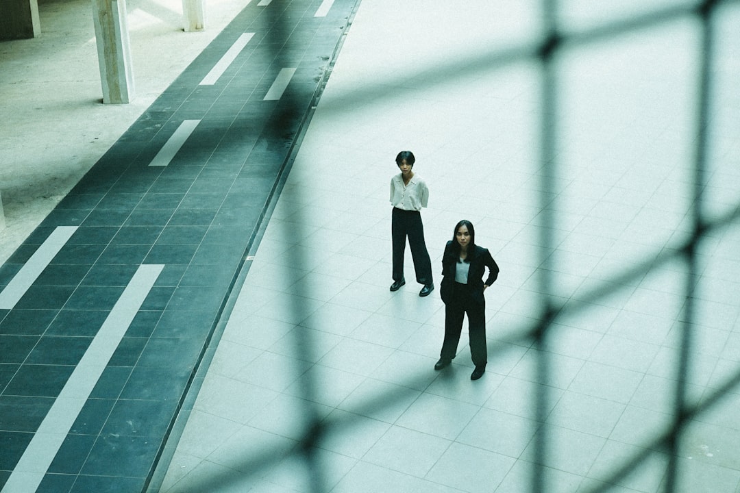
<svg viewBox="0 0 740 493">
<path fill-rule="evenodd" d="M 244 8 L 2 265 L 4 493 L 147 486 L 354 4 Z"/>
</svg>

